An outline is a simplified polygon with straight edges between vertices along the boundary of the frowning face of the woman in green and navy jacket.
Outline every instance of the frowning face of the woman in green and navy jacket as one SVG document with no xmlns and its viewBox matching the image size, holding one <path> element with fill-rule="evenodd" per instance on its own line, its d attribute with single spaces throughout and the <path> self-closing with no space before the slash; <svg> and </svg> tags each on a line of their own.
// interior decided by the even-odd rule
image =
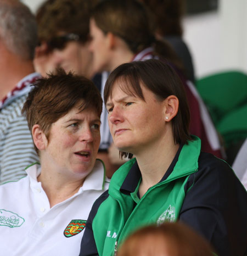
<svg viewBox="0 0 247 256">
<path fill-rule="evenodd" d="M 141 85 L 143 99 L 123 92 L 116 81 L 112 98 L 106 102 L 108 122 L 114 144 L 121 151 L 138 154 L 156 147 L 165 135 L 164 101 Z"/>
</svg>

